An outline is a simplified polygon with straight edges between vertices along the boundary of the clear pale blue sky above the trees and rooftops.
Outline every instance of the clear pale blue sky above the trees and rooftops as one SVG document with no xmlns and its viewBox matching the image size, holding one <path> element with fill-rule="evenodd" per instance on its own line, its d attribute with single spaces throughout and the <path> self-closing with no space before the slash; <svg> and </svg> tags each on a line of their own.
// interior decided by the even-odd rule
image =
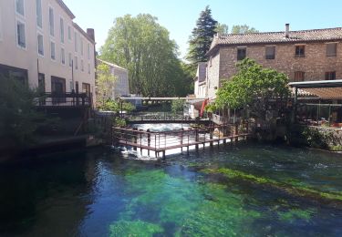
<svg viewBox="0 0 342 237">
<path fill-rule="evenodd" d="M 76 15 L 75 22 L 95 29 L 97 48 L 107 38 L 116 17 L 148 13 L 157 16 L 161 26 L 170 31 L 184 57 L 188 39 L 200 12 L 206 5 L 212 17 L 228 25 L 254 26 L 259 31 L 283 31 L 342 26 L 340 0 L 64 0 Z"/>
</svg>

